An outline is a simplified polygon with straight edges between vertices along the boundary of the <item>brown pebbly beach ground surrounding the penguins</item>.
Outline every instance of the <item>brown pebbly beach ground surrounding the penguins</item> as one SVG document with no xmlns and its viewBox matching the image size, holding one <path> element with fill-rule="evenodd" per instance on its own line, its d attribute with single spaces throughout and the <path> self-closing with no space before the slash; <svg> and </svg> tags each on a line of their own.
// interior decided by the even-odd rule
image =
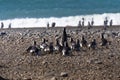
<svg viewBox="0 0 120 80">
<path fill-rule="evenodd" d="M 120 26 L 109 27 L 67 27 L 67 34 L 73 38 L 97 39 L 96 50 L 73 51 L 69 56 L 61 53 L 32 56 L 26 49 L 43 37 L 49 42 L 61 37 L 63 28 L 15 28 L 2 29 L 0 36 L 0 76 L 8 80 L 120 80 Z M 99 46 L 100 34 L 105 32 L 108 47 Z"/>
</svg>

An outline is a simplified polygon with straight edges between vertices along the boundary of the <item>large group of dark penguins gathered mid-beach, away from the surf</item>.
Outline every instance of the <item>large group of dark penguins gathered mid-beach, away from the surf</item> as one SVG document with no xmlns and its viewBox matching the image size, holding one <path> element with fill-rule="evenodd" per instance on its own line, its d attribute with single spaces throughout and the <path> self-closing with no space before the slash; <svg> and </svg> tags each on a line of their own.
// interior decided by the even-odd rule
<svg viewBox="0 0 120 80">
<path fill-rule="evenodd" d="M 96 39 L 93 39 L 90 43 L 87 42 L 84 36 L 82 36 L 81 42 L 79 39 L 74 41 L 74 39 L 71 37 L 70 43 L 68 42 L 68 37 L 66 33 L 66 28 L 63 30 L 62 35 L 62 41 L 59 42 L 58 39 L 56 39 L 55 46 L 53 45 L 53 42 L 47 43 L 47 40 L 44 38 L 42 43 L 37 46 L 36 41 L 33 41 L 33 45 L 29 46 L 27 48 L 27 52 L 32 53 L 34 55 L 40 55 L 41 51 L 43 53 L 53 53 L 58 52 L 62 53 L 63 56 L 69 55 L 71 51 L 80 51 L 82 48 L 89 48 L 89 49 L 96 49 L 97 43 Z M 69 44 L 68 44 L 69 43 Z M 107 39 L 104 38 L 104 33 L 101 34 L 101 46 L 106 46 L 108 44 Z"/>
</svg>

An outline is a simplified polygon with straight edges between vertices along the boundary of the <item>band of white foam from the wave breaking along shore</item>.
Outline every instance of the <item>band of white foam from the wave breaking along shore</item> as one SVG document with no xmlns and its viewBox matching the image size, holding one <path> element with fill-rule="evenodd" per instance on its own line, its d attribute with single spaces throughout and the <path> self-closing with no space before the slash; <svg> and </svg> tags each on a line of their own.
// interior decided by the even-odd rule
<svg viewBox="0 0 120 80">
<path fill-rule="evenodd" d="M 52 22 L 56 23 L 56 26 L 77 26 L 78 22 L 85 18 L 85 25 L 88 24 L 88 21 L 94 19 L 94 25 L 103 25 L 105 17 L 110 21 L 113 20 L 113 25 L 120 25 L 120 13 L 104 13 L 104 14 L 93 14 L 93 15 L 78 15 L 78 16 L 68 16 L 68 17 L 50 17 L 50 18 L 16 18 L 9 20 L 0 20 L 4 23 L 4 27 L 7 28 L 9 23 L 11 23 L 12 28 L 27 28 L 27 27 L 46 27 L 46 24 L 49 22 L 50 25 Z"/>
</svg>

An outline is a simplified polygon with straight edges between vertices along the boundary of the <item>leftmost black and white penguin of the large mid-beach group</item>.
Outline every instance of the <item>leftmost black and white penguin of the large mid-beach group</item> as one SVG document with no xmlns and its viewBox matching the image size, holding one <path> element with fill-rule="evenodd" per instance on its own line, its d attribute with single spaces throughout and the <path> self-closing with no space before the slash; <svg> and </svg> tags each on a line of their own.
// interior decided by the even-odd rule
<svg viewBox="0 0 120 80">
<path fill-rule="evenodd" d="M 33 45 L 27 48 L 27 52 L 31 53 L 32 55 L 40 55 L 40 49 L 36 45 L 36 41 L 33 41 Z"/>
</svg>

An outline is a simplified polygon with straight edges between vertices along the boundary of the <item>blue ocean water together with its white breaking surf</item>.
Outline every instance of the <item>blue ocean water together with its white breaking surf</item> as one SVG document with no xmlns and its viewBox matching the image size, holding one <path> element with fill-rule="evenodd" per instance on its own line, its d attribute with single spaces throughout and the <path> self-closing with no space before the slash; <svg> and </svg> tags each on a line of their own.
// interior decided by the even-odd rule
<svg viewBox="0 0 120 80">
<path fill-rule="evenodd" d="M 13 28 L 77 26 L 85 18 L 85 25 L 103 25 L 105 17 L 120 25 L 120 0 L 0 0 L 0 22 Z"/>
</svg>

